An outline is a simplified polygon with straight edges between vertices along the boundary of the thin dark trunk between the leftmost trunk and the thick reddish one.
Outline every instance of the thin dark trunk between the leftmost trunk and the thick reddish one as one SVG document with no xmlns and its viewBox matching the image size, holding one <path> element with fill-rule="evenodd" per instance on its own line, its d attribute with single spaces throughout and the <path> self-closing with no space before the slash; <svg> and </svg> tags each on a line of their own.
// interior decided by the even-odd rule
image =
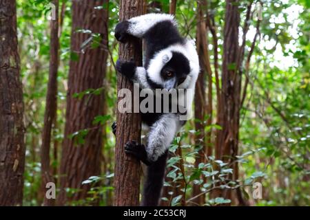
<svg viewBox="0 0 310 220">
<path fill-rule="evenodd" d="M 46 184 L 54 182 L 54 177 L 50 168 L 50 140 L 52 133 L 52 126 L 56 117 L 56 101 L 57 101 L 57 70 L 58 70 L 58 53 L 59 53 L 59 39 L 58 39 L 58 12 L 59 1 L 54 0 L 56 19 L 50 22 L 50 73 L 48 77 L 48 94 L 45 103 L 44 126 L 42 132 L 42 146 L 41 146 L 41 187 L 42 195 L 44 197 L 43 206 L 52 206 L 54 199 L 48 199 L 45 196 Z"/>
</svg>

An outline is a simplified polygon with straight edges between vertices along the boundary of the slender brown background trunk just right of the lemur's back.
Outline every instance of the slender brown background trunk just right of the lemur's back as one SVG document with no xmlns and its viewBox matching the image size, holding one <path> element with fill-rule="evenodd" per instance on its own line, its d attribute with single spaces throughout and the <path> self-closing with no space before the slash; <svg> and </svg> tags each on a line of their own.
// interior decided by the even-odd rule
<svg viewBox="0 0 310 220">
<path fill-rule="evenodd" d="M 198 157 L 196 157 L 195 166 L 205 162 L 205 155 L 211 155 L 211 129 L 205 133 L 205 126 L 211 126 L 212 122 L 212 72 L 211 64 L 209 61 L 209 51 L 207 43 L 207 26 L 205 22 L 205 12 L 207 11 L 206 1 L 198 2 L 198 17 L 197 17 L 197 52 L 199 56 L 199 63 L 201 72 L 196 82 L 195 91 L 195 130 L 199 133 L 195 137 L 195 145 L 202 146 L 199 151 Z M 205 96 L 205 80 L 206 75 L 208 77 L 208 103 Z M 207 123 L 205 123 L 205 116 L 207 115 Z M 200 193 L 200 186 L 193 186 L 193 197 Z M 205 195 L 197 197 L 193 200 L 195 203 L 202 205 L 205 203 Z"/>
</svg>

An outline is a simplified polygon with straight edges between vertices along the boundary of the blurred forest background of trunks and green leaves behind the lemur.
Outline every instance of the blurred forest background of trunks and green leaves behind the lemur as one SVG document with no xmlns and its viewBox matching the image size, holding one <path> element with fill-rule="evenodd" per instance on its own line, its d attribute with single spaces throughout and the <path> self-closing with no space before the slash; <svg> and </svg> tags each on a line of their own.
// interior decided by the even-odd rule
<svg viewBox="0 0 310 220">
<path fill-rule="evenodd" d="M 144 12 L 175 14 L 180 33 L 196 39 L 202 69 L 195 117 L 169 149 L 161 205 L 310 205 L 309 6 L 144 1 Z M 15 9 L 17 32 L 6 21 Z M 114 204 L 119 10 L 115 0 L 0 0 L 1 206 Z M 20 57 L 8 68 L 6 32 L 17 34 Z M 21 87 L 3 73 L 14 65 L 23 110 L 10 110 L 19 124 L 11 132 L 5 107 Z M 50 181 L 56 201 L 44 199 Z"/>
</svg>

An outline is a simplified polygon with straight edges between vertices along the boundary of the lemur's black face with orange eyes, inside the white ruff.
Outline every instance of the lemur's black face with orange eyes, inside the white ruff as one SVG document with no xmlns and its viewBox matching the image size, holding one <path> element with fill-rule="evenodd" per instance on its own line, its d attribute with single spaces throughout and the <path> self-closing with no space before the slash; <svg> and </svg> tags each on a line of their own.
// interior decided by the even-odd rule
<svg viewBox="0 0 310 220">
<path fill-rule="evenodd" d="M 185 82 L 189 75 L 188 59 L 178 52 L 172 52 L 172 58 L 161 69 L 161 78 L 165 89 L 176 89 Z"/>
</svg>

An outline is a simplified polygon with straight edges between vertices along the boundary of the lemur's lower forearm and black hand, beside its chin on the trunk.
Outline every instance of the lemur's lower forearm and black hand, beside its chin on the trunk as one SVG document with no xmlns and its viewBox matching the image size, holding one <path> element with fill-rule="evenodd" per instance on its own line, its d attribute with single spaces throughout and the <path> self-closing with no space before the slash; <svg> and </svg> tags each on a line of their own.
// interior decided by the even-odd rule
<svg viewBox="0 0 310 220">
<path fill-rule="evenodd" d="M 147 72 L 144 67 L 137 67 L 133 61 L 116 61 L 116 70 L 133 83 L 138 83 L 141 89 L 150 88 L 147 83 Z"/>
</svg>

